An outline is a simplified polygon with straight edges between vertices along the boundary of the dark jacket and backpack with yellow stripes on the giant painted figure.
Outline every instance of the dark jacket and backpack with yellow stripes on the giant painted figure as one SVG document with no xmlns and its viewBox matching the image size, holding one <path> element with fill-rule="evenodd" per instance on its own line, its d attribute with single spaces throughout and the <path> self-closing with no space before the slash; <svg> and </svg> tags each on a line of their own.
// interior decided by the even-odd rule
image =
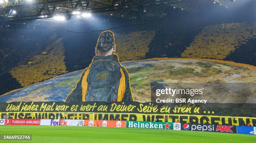
<svg viewBox="0 0 256 143">
<path fill-rule="evenodd" d="M 116 54 L 92 59 L 66 98 L 66 102 L 75 101 L 133 101 L 128 72 Z"/>
</svg>

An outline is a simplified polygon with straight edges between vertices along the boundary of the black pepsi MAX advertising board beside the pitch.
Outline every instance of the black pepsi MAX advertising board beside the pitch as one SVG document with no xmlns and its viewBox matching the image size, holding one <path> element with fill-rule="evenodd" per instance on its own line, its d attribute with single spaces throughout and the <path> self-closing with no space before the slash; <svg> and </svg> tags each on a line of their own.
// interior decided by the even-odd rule
<svg viewBox="0 0 256 143">
<path fill-rule="evenodd" d="M 181 130 L 221 132 L 221 133 L 237 133 L 236 126 L 194 124 L 194 123 L 182 123 L 181 124 Z"/>
</svg>

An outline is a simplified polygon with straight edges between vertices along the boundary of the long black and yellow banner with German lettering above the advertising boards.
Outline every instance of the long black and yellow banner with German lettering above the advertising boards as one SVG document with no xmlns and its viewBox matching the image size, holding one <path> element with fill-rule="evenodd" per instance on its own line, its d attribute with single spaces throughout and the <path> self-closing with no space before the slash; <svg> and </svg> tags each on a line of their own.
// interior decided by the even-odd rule
<svg viewBox="0 0 256 143">
<path fill-rule="evenodd" d="M 256 125 L 254 104 L 158 104 L 138 102 L 12 102 L 0 103 L 0 118 L 155 121 L 246 126 Z M 59 113 L 73 112 L 73 113 Z"/>
</svg>

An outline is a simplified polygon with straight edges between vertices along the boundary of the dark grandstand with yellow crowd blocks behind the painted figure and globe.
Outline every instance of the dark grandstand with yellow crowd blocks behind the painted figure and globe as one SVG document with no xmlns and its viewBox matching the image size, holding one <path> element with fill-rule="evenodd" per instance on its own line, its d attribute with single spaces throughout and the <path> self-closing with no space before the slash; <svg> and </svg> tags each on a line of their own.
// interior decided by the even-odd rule
<svg viewBox="0 0 256 143">
<path fill-rule="evenodd" d="M 152 7 L 143 7 L 135 1 L 134 7 L 138 11 L 126 13 L 122 3 L 118 5 L 123 8 L 118 6 L 115 9 L 113 4 L 114 6 L 110 5 L 105 11 L 93 7 L 94 3 L 90 4 L 91 7 L 89 5 L 89 9 L 92 8 L 92 17 L 74 15 L 64 22 L 53 18 L 38 18 L 38 15 L 31 16 L 33 13 L 24 15 L 22 10 L 7 19 L 3 12 L 5 7 L 0 5 L 0 94 L 88 67 L 95 55 L 94 48 L 101 31 L 87 31 L 106 30 L 111 27 L 119 27 L 112 30 L 117 37 L 117 46 L 120 45 L 120 51 L 117 52 L 121 61 L 190 57 L 228 60 L 256 66 L 256 1 L 220 0 L 223 5 L 215 3 L 214 0 L 196 1 L 197 3 L 182 5 L 175 3 L 177 0 L 158 0 L 159 3 L 152 2 Z M 165 7 L 164 2 L 171 2 L 172 6 Z M 45 9 L 39 10 L 39 14 L 42 14 Z M 61 10 L 59 11 L 62 12 Z M 221 27 L 225 27 L 222 33 L 219 31 Z M 232 35 L 236 35 L 241 29 L 247 31 L 234 39 Z M 218 37 L 223 37 L 224 42 L 218 42 Z M 234 43 L 230 43 L 232 40 Z M 143 42 L 140 43 L 141 41 Z M 231 49 L 226 50 L 221 44 L 231 45 Z M 125 49 L 124 45 L 130 50 Z M 212 45 L 221 52 L 211 52 Z M 197 53 L 195 48 L 198 49 Z M 126 50 L 128 52 L 123 54 Z M 201 54 L 200 51 L 208 54 Z M 33 79 L 33 76 L 37 78 Z"/>
</svg>

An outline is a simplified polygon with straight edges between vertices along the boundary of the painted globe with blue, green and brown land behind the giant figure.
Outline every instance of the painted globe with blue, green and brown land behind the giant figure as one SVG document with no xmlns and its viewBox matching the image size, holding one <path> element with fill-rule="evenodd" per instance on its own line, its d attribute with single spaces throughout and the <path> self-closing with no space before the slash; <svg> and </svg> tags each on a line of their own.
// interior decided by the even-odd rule
<svg viewBox="0 0 256 143">
<path fill-rule="evenodd" d="M 236 88 L 235 94 L 222 91 L 208 93 L 204 98 L 212 103 L 255 103 L 256 69 L 241 64 L 217 60 L 159 58 L 123 62 L 128 70 L 134 101 L 151 101 L 151 83 L 168 86 L 169 83 L 246 83 Z M 64 101 L 74 89 L 83 70 L 26 86 L 0 96 L 0 102 Z M 225 90 L 224 90 L 225 91 Z M 219 93 L 219 94 L 218 94 Z M 245 98 L 246 97 L 246 98 Z M 192 97 L 197 99 L 198 97 Z"/>
</svg>

